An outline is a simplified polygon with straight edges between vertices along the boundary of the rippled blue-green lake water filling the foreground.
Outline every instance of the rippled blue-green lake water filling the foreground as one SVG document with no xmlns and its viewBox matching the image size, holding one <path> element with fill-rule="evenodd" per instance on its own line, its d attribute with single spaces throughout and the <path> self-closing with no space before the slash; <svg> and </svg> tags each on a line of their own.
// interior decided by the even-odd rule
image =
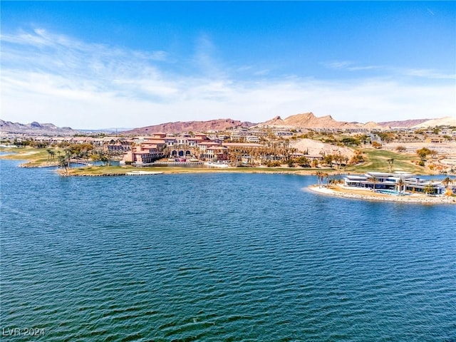
<svg viewBox="0 0 456 342">
<path fill-rule="evenodd" d="M 1 341 L 456 341 L 454 206 L 324 197 L 310 176 L 16 166 Z"/>
</svg>

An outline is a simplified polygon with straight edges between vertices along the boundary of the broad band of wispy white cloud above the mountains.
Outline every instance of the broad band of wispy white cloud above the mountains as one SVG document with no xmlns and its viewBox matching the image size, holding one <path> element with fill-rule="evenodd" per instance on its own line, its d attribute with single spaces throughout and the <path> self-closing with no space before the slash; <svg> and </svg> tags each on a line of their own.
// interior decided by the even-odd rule
<svg viewBox="0 0 456 342">
<path fill-rule="evenodd" d="M 456 108 L 455 86 L 445 79 L 432 85 L 388 77 L 237 79 L 231 75 L 239 68 L 223 69 L 204 35 L 195 59 L 187 61 L 201 67 L 193 76 L 168 71 L 165 51 L 128 51 L 42 30 L 1 40 L 2 118 L 21 123 L 105 128 L 214 118 L 261 122 L 309 111 L 366 122 L 438 118 L 454 115 Z"/>
</svg>

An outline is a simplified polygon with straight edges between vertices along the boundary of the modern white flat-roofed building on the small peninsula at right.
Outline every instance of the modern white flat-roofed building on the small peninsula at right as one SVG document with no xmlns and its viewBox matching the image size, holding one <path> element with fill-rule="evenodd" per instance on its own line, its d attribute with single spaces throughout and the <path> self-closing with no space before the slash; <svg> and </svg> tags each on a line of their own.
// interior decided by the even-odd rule
<svg viewBox="0 0 456 342">
<path fill-rule="evenodd" d="M 372 190 L 397 190 L 398 192 L 422 192 L 428 195 L 443 195 L 442 182 L 425 180 L 404 172 L 366 172 L 365 175 L 348 175 L 343 178 L 346 187 Z"/>
</svg>

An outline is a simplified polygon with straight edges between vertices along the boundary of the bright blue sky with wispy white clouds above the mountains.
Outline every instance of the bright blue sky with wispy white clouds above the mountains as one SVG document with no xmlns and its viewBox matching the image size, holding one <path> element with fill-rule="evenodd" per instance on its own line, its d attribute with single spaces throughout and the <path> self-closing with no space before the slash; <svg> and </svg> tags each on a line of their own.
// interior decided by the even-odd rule
<svg viewBox="0 0 456 342">
<path fill-rule="evenodd" d="M 456 115 L 455 1 L 1 1 L 1 118 Z"/>
</svg>

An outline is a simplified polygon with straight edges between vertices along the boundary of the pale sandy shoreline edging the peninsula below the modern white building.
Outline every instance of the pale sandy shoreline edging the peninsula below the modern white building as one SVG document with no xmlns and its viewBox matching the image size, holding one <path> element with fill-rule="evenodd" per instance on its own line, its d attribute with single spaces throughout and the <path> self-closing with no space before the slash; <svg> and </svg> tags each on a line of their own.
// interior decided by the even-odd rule
<svg viewBox="0 0 456 342">
<path fill-rule="evenodd" d="M 430 197 L 427 195 L 409 195 L 409 196 L 395 196 L 385 195 L 376 192 L 369 192 L 368 190 L 351 190 L 340 187 L 338 185 L 331 185 L 331 187 L 318 187 L 318 185 L 310 185 L 307 189 L 318 195 L 326 195 L 333 197 L 343 197 L 348 199 L 362 199 L 377 202 L 402 202 L 402 203 L 415 203 L 415 204 L 456 204 L 456 197 L 441 196 Z"/>
</svg>

